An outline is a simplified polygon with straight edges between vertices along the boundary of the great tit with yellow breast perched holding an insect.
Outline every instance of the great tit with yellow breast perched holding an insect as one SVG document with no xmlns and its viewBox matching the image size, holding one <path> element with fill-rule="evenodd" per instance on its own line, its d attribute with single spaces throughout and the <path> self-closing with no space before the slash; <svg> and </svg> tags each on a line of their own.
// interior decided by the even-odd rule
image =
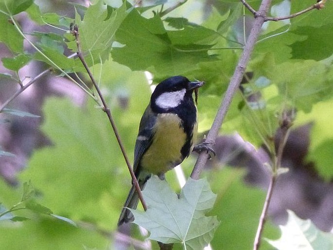
<svg viewBox="0 0 333 250">
<path fill-rule="evenodd" d="M 141 190 L 152 174 L 164 179 L 164 173 L 180 164 L 193 150 L 197 133 L 195 100 L 197 88 L 204 82 L 173 76 L 160 82 L 144 111 L 134 148 L 133 170 Z M 125 201 L 118 226 L 131 222 L 139 196 L 134 185 Z"/>
</svg>

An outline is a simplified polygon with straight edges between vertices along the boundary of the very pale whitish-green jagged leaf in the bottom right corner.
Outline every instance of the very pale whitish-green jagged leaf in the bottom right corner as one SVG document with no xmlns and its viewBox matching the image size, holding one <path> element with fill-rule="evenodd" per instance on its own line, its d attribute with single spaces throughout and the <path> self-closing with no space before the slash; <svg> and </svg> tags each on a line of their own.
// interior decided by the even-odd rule
<svg viewBox="0 0 333 250">
<path fill-rule="evenodd" d="M 267 240 L 278 250 L 332 250 L 333 236 L 319 231 L 308 220 L 299 219 L 292 211 L 288 211 L 288 221 L 280 226 L 282 235 L 279 240 Z"/>
</svg>

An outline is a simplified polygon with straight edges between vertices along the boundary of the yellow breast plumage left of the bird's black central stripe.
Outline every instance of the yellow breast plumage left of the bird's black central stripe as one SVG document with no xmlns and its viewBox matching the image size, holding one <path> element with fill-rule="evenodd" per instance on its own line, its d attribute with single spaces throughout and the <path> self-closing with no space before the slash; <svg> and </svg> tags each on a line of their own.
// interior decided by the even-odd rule
<svg viewBox="0 0 333 250">
<path fill-rule="evenodd" d="M 158 175 L 181 163 L 180 150 L 186 142 L 186 134 L 180 123 L 175 114 L 158 115 L 153 142 L 141 159 L 145 171 Z"/>
</svg>

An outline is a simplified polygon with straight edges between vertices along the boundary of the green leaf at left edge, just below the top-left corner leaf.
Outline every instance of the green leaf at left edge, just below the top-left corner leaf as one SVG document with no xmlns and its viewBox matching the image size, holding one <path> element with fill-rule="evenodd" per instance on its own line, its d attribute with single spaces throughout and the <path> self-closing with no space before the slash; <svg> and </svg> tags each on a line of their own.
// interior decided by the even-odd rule
<svg viewBox="0 0 333 250">
<path fill-rule="evenodd" d="M 6 44 L 14 53 L 23 53 L 23 37 L 9 22 L 9 18 L 2 13 L 0 13 L 0 31 L 0 42 Z"/>
</svg>

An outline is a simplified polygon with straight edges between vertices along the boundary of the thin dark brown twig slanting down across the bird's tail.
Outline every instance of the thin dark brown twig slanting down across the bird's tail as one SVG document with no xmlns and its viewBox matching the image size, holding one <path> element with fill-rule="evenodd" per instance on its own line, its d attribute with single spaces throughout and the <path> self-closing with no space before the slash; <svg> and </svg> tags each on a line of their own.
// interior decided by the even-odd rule
<svg viewBox="0 0 333 250">
<path fill-rule="evenodd" d="M 128 170 L 129 170 L 129 172 L 131 174 L 133 185 L 135 186 L 135 190 L 137 191 L 137 193 L 139 195 L 142 207 L 146 211 L 147 210 L 147 205 L 146 205 L 146 203 L 143 200 L 143 196 L 142 196 L 142 192 L 141 192 L 141 189 L 140 189 L 140 186 L 139 186 L 139 182 L 138 182 L 137 178 L 135 177 L 135 174 L 133 172 L 133 168 L 131 166 L 131 163 L 128 160 L 125 148 L 123 146 L 123 142 L 122 142 L 122 140 L 120 138 L 118 129 L 116 127 L 116 124 L 115 124 L 115 122 L 114 122 L 114 120 L 112 118 L 111 110 L 110 110 L 109 107 L 107 107 L 107 104 L 105 102 L 105 99 L 104 99 L 104 96 L 103 96 L 103 94 L 101 92 L 101 89 L 99 88 L 98 84 L 96 83 L 96 81 L 95 81 L 95 79 L 94 79 L 94 77 L 93 77 L 93 75 L 92 75 L 92 73 L 91 73 L 91 71 L 90 71 L 90 69 L 89 69 L 89 67 L 88 67 L 88 65 L 86 63 L 86 60 L 85 60 L 85 58 L 84 58 L 84 56 L 82 54 L 78 29 L 79 29 L 78 26 L 74 25 L 73 31 L 72 31 L 72 34 L 73 34 L 73 36 L 75 36 L 75 39 L 76 39 L 77 56 L 79 57 L 79 59 L 81 60 L 83 66 L 85 67 L 86 71 L 88 72 L 88 75 L 89 75 L 89 77 L 90 77 L 90 79 L 91 79 L 91 81 L 92 81 L 92 83 L 93 83 L 93 85 L 94 85 L 94 87 L 95 87 L 95 89 L 96 89 L 96 91 L 97 91 L 100 99 L 101 99 L 101 102 L 103 104 L 103 111 L 106 113 L 106 115 L 107 115 L 107 117 L 108 117 L 108 119 L 110 121 L 110 124 L 112 126 L 113 132 L 114 132 L 114 134 L 116 136 L 117 142 L 118 142 L 118 144 L 120 146 L 120 149 L 121 149 L 121 151 L 123 153 L 123 157 L 124 157 L 124 159 L 126 161 Z"/>
</svg>

